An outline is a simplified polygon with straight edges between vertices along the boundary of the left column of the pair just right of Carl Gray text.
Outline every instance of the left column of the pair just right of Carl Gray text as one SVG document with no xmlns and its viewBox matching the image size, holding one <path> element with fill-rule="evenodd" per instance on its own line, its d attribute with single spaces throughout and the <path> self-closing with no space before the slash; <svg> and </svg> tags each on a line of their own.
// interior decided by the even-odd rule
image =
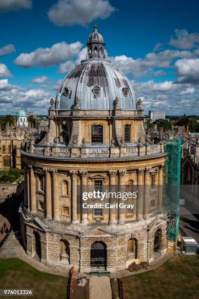
<svg viewBox="0 0 199 299">
<path fill-rule="evenodd" d="M 138 193 L 137 193 L 137 211 L 136 211 L 136 219 L 141 220 L 143 216 L 143 170 L 138 170 Z"/>
</svg>

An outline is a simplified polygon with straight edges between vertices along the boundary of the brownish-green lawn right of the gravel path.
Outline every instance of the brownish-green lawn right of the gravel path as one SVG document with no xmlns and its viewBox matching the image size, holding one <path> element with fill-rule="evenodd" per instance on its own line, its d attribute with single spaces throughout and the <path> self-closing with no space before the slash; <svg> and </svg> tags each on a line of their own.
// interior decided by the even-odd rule
<svg viewBox="0 0 199 299">
<path fill-rule="evenodd" d="M 158 269 L 123 280 L 125 299 L 199 298 L 199 258 L 173 256 Z"/>
</svg>

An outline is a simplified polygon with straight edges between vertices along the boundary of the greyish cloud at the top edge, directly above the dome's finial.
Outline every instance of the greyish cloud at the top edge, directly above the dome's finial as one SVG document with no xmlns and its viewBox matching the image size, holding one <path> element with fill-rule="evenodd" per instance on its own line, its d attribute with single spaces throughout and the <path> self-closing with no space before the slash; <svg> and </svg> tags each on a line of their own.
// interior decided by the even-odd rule
<svg viewBox="0 0 199 299">
<path fill-rule="evenodd" d="M 85 25 L 106 19 L 115 10 L 108 0 L 59 0 L 48 11 L 48 18 L 58 26 Z"/>
</svg>

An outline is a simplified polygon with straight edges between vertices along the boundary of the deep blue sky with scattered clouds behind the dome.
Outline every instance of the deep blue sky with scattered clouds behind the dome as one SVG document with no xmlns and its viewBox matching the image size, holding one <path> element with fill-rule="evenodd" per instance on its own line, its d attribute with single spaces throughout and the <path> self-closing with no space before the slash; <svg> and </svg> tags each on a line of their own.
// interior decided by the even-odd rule
<svg viewBox="0 0 199 299">
<path fill-rule="evenodd" d="M 0 1 L 0 114 L 47 113 L 95 22 L 145 113 L 199 114 L 199 1 Z"/>
</svg>

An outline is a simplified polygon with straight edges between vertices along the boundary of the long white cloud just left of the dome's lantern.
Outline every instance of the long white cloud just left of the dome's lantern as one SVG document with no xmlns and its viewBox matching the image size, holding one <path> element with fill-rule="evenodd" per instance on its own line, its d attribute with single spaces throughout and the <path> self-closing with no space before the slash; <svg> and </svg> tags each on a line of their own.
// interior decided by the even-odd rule
<svg viewBox="0 0 199 299">
<path fill-rule="evenodd" d="M 24 68 L 56 65 L 64 60 L 74 58 L 79 53 L 81 46 L 80 42 L 55 43 L 51 48 L 38 48 L 31 53 L 21 53 L 14 63 Z"/>
</svg>

